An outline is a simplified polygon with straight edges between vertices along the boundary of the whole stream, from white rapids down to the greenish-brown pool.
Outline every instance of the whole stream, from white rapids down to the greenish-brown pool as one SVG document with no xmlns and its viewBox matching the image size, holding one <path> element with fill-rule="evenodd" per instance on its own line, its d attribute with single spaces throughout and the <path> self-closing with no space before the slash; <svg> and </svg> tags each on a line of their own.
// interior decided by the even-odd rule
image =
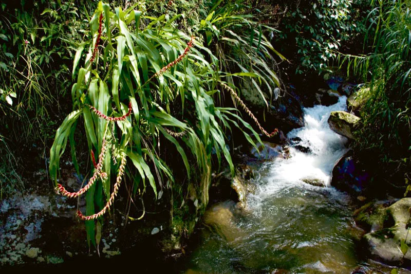
<svg viewBox="0 0 411 274">
<path fill-rule="evenodd" d="M 311 153 L 291 147 L 289 159 L 258 167 L 247 210 L 225 202 L 206 213 L 204 222 L 214 232 L 202 229 L 187 273 L 350 273 L 358 265 L 349 197 L 329 186 L 347 140 L 332 132 L 327 120 L 331 111 L 344 110 L 345 102 L 341 97 L 331 106 L 304 109 L 305 126 L 288 137 Z"/>
</svg>

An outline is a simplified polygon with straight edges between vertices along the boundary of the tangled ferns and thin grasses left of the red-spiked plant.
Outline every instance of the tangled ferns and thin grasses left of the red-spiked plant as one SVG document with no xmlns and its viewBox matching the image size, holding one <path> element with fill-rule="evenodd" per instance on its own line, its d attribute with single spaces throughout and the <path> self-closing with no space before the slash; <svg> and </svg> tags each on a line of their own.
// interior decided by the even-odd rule
<svg viewBox="0 0 411 274">
<path fill-rule="evenodd" d="M 96 2 L 0 3 L 0 182 L 7 194 L 23 187 L 22 172 L 16 171 L 23 151 L 45 147 L 58 114 L 66 113 L 60 99 L 70 90 L 72 58 Z"/>
</svg>

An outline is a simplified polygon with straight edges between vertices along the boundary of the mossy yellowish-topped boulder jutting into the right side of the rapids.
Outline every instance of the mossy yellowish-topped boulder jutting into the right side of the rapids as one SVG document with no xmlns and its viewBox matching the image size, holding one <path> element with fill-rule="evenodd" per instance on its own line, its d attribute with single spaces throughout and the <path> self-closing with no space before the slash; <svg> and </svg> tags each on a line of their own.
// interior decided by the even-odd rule
<svg viewBox="0 0 411 274">
<path fill-rule="evenodd" d="M 360 121 L 360 117 L 344 111 L 331 112 L 328 118 L 330 129 L 349 139 L 353 139 L 352 131 Z"/>
</svg>

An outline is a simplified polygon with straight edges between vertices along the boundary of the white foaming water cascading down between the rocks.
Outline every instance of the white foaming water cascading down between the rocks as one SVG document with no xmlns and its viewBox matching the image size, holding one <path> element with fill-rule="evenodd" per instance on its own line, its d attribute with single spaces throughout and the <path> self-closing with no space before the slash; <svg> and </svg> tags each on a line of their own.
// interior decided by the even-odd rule
<svg viewBox="0 0 411 274">
<path fill-rule="evenodd" d="M 332 111 L 346 110 L 346 99 L 342 96 L 334 105 L 304 108 L 305 126 L 291 131 L 288 137 L 300 138 L 298 144 L 309 148 L 311 153 L 303 153 L 291 147 L 289 159 L 275 159 L 270 163 L 269 175 L 264 178 L 266 183 L 260 185 L 259 191 L 251 196 L 254 203 L 277 191 L 307 185 L 303 179 L 315 179 L 326 186 L 330 185 L 332 168 L 345 154 L 347 138 L 330 129 L 328 118 Z"/>
</svg>

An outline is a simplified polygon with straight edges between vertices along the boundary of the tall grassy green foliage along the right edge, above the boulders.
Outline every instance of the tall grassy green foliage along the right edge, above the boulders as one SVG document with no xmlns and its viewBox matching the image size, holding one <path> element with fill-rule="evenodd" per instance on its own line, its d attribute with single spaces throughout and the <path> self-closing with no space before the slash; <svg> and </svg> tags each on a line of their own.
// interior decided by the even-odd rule
<svg viewBox="0 0 411 274">
<path fill-rule="evenodd" d="M 357 144 L 379 159 L 379 176 L 397 175 L 400 181 L 393 183 L 403 184 L 411 168 L 411 2 L 380 0 L 375 6 L 367 17 L 370 53 L 341 56 L 341 62 L 368 86 L 357 94 L 365 102 Z"/>
</svg>

